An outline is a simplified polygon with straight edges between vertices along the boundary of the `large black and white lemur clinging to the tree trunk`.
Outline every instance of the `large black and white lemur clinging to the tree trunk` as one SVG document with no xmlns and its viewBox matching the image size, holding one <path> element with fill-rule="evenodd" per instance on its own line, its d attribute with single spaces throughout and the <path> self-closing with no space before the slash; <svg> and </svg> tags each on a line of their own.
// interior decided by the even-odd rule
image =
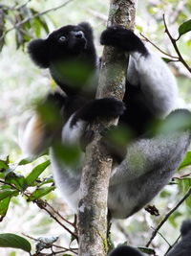
<svg viewBox="0 0 191 256">
<path fill-rule="evenodd" d="M 127 145 L 122 159 L 117 157 L 110 178 L 108 209 L 113 218 L 124 219 L 138 212 L 167 184 L 190 144 L 190 132 L 183 129 L 167 136 L 147 137 L 148 124 L 166 117 L 176 103 L 174 76 L 132 31 L 110 27 L 102 33 L 100 42 L 130 54 L 123 102 L 95 99 L 98 60 L 88 23 L 65 26 L 46 39 L 32 40 L 29 44 L 32 60 L 42 68 L 49 68 L 53 80 L 65 93 L 47 98 L 62 109 L 64 124 L 54 134 L 34 114 L 22 136 L 21 147 L 28 156 L 51 148 L 55 184 L 76 211 L 84 152 L 73 170 L 56 157 L 53 143 L 55 140 L 69 145 L 79 143 L 96 117 L 119 116 L 118 127 L 131 128 L 135 139 Z M 82 66 L 86 67 L 85 76 L 77 80 L 76 70 Z M 190 115 L 187 110 L 176 111 L 164 122 L 176 113 Z"/>
</svg>

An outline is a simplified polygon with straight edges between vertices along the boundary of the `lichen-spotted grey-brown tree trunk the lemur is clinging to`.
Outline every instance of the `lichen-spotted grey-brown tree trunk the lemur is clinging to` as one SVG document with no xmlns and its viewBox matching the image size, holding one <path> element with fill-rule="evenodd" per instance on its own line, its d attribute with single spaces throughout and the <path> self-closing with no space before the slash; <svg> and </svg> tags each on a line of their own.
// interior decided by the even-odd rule
<svg viewBox="0 0 191 256">
<path fill-rule="evenodd" d="M 133 29 L 137 0 L 111 0 L 108 26 L 121 25 Z M 126 58 L 113 47 L 104 47 L 97 98 L 115 97 L 122 100 L 125 88 Z M 86 149 L 80 184 L 78 208 L 80 256 L 107 255 L 107 196 L 112 158 L 100 139 L 103 128 L 117 120 L 98 120 L 94 125 L 95 140 Z"/>
</svg>

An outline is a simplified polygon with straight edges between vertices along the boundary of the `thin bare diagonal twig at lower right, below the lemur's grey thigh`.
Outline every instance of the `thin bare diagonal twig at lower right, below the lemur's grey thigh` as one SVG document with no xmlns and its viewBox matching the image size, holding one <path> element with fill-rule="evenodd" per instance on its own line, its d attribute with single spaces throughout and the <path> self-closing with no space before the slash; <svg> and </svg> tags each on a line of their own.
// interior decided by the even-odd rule
<svg viewBox="0 0 191 256">
<path fill-rule="evenodd" d="M 159 222 L 159 225 L 157 226 L 157 228 L 155 229 L 155 231 L 153 232 L 152 234 L 152 237 L 150 238 L 149 242 L 146 244 L 146 247 L 148 247 L 151 242 L 154 240 L 154 238 L 156 237 L 158 231 L 159 231 L 159 228 L 164 224 L 165 221 L 168 220 L 168 218 L 171 216 L 171 214 L 173 214 L 180 206 L 180 204 L 186 199 L 188 198 L 189 196 L 191 195 L 191 187 L 189 188 L 189 190 L 186 192 L 186 194 L 184 195 L 183 198 L 180 199 L 180 201 L 175 205 L 174 208 L 172 208 L 163 218 L 162 221 Z"/>
</svg>

